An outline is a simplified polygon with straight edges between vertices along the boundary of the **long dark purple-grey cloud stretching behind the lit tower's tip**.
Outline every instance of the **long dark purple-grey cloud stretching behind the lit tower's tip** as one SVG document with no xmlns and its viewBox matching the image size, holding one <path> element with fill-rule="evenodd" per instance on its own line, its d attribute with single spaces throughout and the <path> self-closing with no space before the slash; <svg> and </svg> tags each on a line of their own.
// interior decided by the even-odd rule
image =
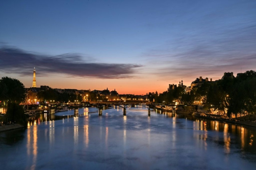
<svg viewBox="0 0 256 170">
<path fill-rule="evenodd" d="M 0 71 L 31 75 L 36 67 L 39 75 L 66 74 L 76 77 L 119 79 L 133 77 L 137 64 L 107 64 L 84 60 L 78 54 L 47 56 L 23 51 L 17 48 L 0 48 Z"/>
</svg>

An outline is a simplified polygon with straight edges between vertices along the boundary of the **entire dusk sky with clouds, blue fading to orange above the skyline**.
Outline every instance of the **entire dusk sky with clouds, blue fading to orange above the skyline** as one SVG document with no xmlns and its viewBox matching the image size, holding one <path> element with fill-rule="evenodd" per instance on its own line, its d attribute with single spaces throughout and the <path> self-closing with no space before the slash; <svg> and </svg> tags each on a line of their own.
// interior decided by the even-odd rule
<svg viewBox="0 0 256 170">
<path fill-rule="evenodd" d="M 9 0 L 0 78 L 142 95 L 256 70 L 255 0 Z"/>
</svg>

